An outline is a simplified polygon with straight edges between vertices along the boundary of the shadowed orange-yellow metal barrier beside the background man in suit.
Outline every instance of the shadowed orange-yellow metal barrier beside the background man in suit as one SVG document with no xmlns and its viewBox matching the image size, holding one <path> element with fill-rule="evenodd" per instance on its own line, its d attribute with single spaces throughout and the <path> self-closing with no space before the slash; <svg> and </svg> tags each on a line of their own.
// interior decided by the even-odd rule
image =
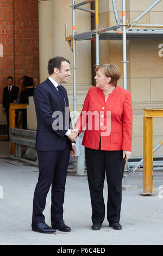
<svg viewBox="0 0 163 256">
<path fill-rule="evenodd" d="M 10 128 L 15 127 L 15 109 L 22 109 L 22 108 L 27 108 L 28 104 L 15 104 L 15 103 L 10 103 Z M 15 144 L 11 143 L 10 145 L 10 154 L 15 153 Z"/>
</svg>

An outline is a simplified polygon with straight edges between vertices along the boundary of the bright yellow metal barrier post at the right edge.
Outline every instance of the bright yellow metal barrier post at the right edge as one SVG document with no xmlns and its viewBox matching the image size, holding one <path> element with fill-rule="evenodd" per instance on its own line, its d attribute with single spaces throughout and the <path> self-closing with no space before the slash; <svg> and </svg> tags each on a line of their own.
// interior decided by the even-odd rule
<svg viewBox="0 0 163 256">
<path fill-rule="evenodd" d="M 163 117 L 163 109 L 144 109 L 143 117 L 143 193 L 153 195 L 153 118 Z"/>
</svg>

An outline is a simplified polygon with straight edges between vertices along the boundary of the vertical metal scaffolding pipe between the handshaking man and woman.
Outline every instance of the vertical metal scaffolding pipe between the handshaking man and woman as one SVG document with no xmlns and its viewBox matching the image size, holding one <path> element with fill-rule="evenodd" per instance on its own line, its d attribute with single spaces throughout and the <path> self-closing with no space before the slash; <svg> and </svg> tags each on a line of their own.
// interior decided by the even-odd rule
<svg viewBox="0 0 163 256">
<path fill-rule="evenodd" d="M 75 0 L 72 0 L 72 5 L 75 4 Z M 76 12 L 75 8 L 72 8 L 72 32 L 73 32 L 73 112 L 74 112 L 74 124 L 77 121 L 77 64 L 76 64 Z"/>
</svg>

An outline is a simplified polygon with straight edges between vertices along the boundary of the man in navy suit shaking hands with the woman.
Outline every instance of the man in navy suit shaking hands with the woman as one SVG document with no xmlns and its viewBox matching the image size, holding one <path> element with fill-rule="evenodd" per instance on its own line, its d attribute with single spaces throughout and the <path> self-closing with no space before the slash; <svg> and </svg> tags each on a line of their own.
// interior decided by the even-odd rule
<svg viewBox="0 0 163 256">
<path fill-rule="evenodd" d="M 54 233 L 55 229 L 69 232 L 71 228 L 63 220 L 63 204 L 68 161 L 70 151 L 72 156 L 76 155 L 76 147 L 72 142 L 77 133 L 70 129 L 67 92 L 60 85 L 66 83 L 71 76 L 69 60 L 62 57 L 50 59 L 48 73 L 47 80 L 39 84 L 34 92 L 39 180 L 34 192 L 32 230 L 40 233 Z M 42 214 L 51 185 L 52 228 L 45 223 Z"/>
</svg>

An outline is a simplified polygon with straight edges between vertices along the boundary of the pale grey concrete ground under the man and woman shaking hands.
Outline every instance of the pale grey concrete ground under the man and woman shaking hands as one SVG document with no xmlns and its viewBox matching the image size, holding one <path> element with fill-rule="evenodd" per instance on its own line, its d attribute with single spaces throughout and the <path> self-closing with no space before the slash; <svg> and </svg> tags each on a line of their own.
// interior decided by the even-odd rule
<svg viewBox="0 0 163 256">
<path fill-rule="evenodd" d="M 154 172 L 156 196 L 141 196 L 142 172 L 123 178 L 123 185 L 136 186 L 122 191 L 122 230 L 109 227 L 105 218 L 101 230 L 91 229 L 91 203 L 86 176 L 68 173 L 64 220 L 71 233 L 40 234 L 32 231 L 33 193 L 38 169 L 10 159 L 9 142 L 0 142 L 0 245 L 162 245 L 163 172 Z M 160 187 L 162 186 L 162 188 Z M 159 190 L 161 188 L 161 190 Z M 106 202 L 107 186 L 104 186 Z M 47 197 L 46 223 L 50 221 L 51 195 Z"/>
</svg>

